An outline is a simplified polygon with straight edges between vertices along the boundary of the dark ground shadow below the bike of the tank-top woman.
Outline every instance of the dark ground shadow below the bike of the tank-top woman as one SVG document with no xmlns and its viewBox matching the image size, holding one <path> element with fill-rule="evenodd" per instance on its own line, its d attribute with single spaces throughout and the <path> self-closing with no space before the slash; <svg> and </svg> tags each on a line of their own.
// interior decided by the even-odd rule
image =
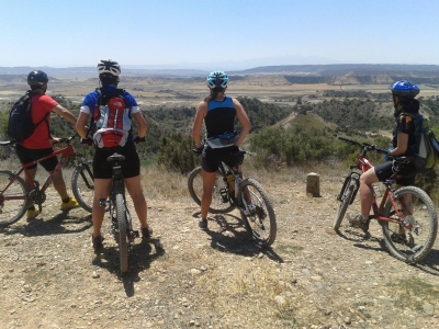
<svg viewBox="0 0 439 329">
<path fill-rule="evenodd" d="M 198 217 L 200 213 L 194 213 Z M 267 258 L 283 263 L 283 259 L 274 252 L 271 247 L 257 246 L 251 235 L 247 231 L 245 223 L 240 217 L 232 214 L 211 215 L 209 222 L 215 222 L 219 230 L 212 230 L 207 227 L 205 232 L 211 236 L 211 247 L 221 252 L 235 253 L 243 257 L 255 257 L 260 253 Z"/>
</svg>

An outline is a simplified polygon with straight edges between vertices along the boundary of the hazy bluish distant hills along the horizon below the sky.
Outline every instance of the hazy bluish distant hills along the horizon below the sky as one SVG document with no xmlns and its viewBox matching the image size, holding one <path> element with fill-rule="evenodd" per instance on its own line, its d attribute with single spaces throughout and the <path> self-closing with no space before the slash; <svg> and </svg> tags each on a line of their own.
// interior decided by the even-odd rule
<svg viewBox="0 0 439 329">
<path fill-rule="evenodd" d="M 0 67 L 2 75 L 27 75 L 42 69 L 49 76 L 95 77 L 94 67 Z M 178 68 L 122 68 L 124 76 L 132 77 L 205 77 L 209 71 Z M 389 65 L 389 64 L 330 64 L 330 65 L 282 65 L 263 66 L 246 70 L 227 71 L 230 76 L 285 76 L 290 83 L 389 83 L 399 78 L 410 78 L 417 83 L 439 83 L 438 65 Z M 340 79 L 344 77 L 344 79 Z M 1 77 L 2 78 L 2 77 Z M 338 78 L 338 79 L 336 79 Z"/>
</svg>

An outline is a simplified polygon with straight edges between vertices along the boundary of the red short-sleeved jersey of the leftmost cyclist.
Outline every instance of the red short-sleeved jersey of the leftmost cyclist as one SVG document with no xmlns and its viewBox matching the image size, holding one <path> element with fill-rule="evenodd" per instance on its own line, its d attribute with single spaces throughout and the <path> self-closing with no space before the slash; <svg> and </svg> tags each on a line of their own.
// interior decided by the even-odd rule
<svg viewBox="0 0 439 329">
<path fill-rule="evenodd" d="M 58 103 L 46 94 L 36 94 L 32 98 L 32 121 L 33 123 L 40 122 L 47 113 L 58 105 Z M 50 115 L 47 115 L 45 122 L 43 121 L 35 132 L 26 140 L 20 143 L 21 146 L 29 149 L 50 148 L 50 132 L 48 125 L 50 123 Z"/>
</svg>

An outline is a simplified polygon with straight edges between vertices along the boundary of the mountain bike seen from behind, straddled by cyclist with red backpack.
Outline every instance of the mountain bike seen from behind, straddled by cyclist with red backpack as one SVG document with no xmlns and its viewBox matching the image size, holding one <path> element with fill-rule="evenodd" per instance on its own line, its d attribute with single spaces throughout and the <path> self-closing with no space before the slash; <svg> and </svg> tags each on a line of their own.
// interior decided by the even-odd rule
<svg viewBox="0 0 439 329">
<path fill-rule="evenodd" d="M 138 230 L 133 229 L 132 216 L 126 206 L 125 183 L 122 175 L 122 161 L 125 157 L 114 152 L 108 159 L 112 163 L 113 175 L 109 200 L 101 198 L 100 206 L 109 207 L 111 216 L 111 231 L 119 245 L 121 272 L 128 271 L 128 251 L 135 238 L 139 237 Z"/>
</svg>

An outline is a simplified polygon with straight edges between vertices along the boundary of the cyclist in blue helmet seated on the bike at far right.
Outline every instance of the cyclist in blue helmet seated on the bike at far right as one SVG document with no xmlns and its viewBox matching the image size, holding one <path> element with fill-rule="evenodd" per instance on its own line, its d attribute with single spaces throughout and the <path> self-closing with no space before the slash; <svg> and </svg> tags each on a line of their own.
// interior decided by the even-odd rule
<svg viewBox="0 0 439 329">
<path fill-rule="evenodd" d="M 419 102 L 415 97 L 419 93 L 419 87 L 409 81 L 396 81 L 391 87 L 394 116 L 396 126 L 393 129 L 393 148 L 389 155 L 393 157 L 414 157 L 416 152 L 415 123 L 412 116 L 406 113 L 416 114 L 419 112 Z M 384 156 L 387 160 L 387 155 Z M 387 180 L 394 174 L 393 161 L 380 163 L 360 177 L 360 201 L 361 214 L 349 218 L 349 223 L 367 231 L 369 229 L 369 212 L 373 202 L 372 184 Z M 416 169 L 414 163 L 399 164 L 396 184 L 399 186 L 413 185 L 415 183 Z M 409 201 L 408 201 L 409 202 Z M 395 242 L 404 241 L 404 231 L 392 235 Z"/>
</svg>

